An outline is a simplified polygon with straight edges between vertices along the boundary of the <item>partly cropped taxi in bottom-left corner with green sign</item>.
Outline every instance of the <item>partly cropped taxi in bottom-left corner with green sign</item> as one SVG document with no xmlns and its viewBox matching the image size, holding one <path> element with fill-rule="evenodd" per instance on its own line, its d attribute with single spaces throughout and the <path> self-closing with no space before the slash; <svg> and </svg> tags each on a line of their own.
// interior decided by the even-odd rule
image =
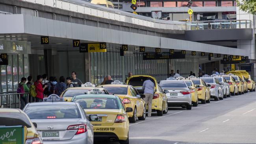
<svg viewBox="0 0 256 144">
<path fill-rule="evenodd" d="M 0 133 L 4 132 L 4 129 L 12 130 L 13 136 L 9 135 L 9 139 L 11 140 L 17 140 L 15 143 L 19 144 L 18 137 L 15 137 L 19 135 L 20 133 L 24 133 L 24 139 L 22 144 L 43 144 L 43 140 L 40 136 L 40 134 L 37 132 L 36 124 L 31 122 L 30 118 L 26 113 L 24 113 L 20 109 L 7 109 L 7 108 L 0 108 L 1 113 L 1 120 L 0 120 Z M 19 128 L 15 128 L 13 126 L 22 126 Z M 22 129 L 22 130 L 21 130 Z M 21 131 L 23 132 L 21 132 Z M 3 139 L 2 139 L 3 140 Z M 5 142 L 5 140 L 3 140 Z M 14 142 L 14 141 L 13 141 Z M 8 140 L 7 143 L 9 144 Z"/>
</svg>

